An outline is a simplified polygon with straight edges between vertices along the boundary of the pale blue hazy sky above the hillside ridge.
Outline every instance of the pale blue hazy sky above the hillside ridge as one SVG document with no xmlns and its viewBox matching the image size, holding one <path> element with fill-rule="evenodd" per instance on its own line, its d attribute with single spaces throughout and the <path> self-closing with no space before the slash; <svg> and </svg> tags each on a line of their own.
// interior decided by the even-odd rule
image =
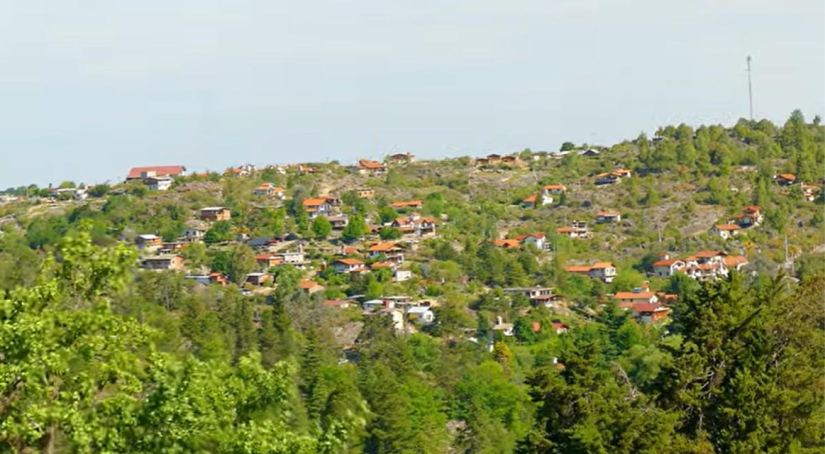
<svg viewBox="0 0 825 454">
<path fill-rule="evenodd" d="M 825 113 L 825 2 L 0 0 L 0 188 Z"/>
</svg>

